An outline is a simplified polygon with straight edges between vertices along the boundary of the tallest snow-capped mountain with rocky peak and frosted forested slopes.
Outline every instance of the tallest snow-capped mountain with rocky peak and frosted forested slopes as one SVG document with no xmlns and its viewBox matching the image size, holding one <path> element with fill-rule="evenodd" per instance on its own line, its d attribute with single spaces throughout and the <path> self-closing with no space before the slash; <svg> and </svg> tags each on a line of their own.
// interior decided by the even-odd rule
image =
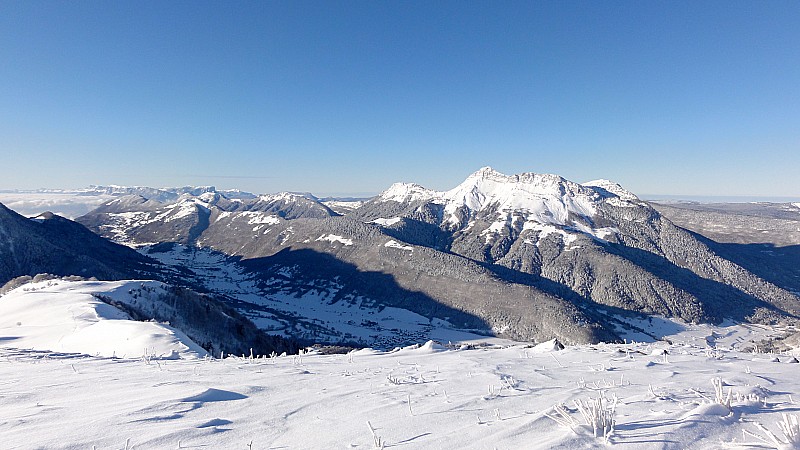
<svg viewBox="0 0 800 450">
<path fill-rule="evenodd" d="M 616 183 L 490 168 L 446 192 L 395 185 L 354 214 L 393 236 L 557 283 L 594 303 L 718 321 L 796 314 L 798 299 L 711 251 Z M 531 280 L 532 282 L 535 281 Z"/>
</svg>

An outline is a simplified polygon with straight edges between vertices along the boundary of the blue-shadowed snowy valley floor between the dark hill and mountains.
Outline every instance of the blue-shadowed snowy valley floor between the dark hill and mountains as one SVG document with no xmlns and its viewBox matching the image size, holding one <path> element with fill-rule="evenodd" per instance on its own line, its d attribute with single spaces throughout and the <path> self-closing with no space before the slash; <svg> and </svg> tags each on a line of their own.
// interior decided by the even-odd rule
<svg viewBox="0 0 800 450">
<path fill-rule="evenodd" d="M 190 268 L 195 274 L 194 282 L 237 299 L 239 312 L 270 334 L 312 341 L 376 343 L 373 345 L 381 348 L 429 339 L 478 337 L 454 330 L 447 321 L 430 320 L 406 309 L 382 307 L 367 298 L 349 296 L 334 301 L 341 289 L 335 283 L 307 285 L 303 292 L 298 292 L 291 283 L 282 283 L 278 277 L 270 280 L 269 286 L 260 287 L 251 273 L 222 253 L 179 244 L 158 252 L 150 252 L 150 248 L 140 247 L 140 251 L 167 266 Z M 291 277 L 292 273 L 285 274 L 285 278 Z"/>
</svg>

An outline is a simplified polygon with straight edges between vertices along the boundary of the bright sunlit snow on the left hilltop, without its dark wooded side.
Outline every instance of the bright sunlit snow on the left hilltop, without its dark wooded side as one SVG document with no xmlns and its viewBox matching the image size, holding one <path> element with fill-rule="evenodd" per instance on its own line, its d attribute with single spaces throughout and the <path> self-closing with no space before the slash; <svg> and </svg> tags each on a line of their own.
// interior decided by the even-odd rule
<svg viewBox="0 0 800 450">
<path fill-rule="evenodd" d="M 0 346 L 101 356 L 193 358 L 206 351 L 184 333 L 157 322 L 139 322 L 94 297 L 125 304 L 148 302 L 129 294 L 161 283 L 140 281 L 27 284 L 0 297 Z M 156 305 L 138 305 L 155 308 Z"/>
</svg>

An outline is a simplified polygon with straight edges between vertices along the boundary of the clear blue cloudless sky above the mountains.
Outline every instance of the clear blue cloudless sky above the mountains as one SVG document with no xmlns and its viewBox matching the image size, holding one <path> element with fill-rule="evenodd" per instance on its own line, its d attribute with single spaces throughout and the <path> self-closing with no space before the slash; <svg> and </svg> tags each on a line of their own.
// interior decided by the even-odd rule
<svg viewBox="0 0 800 450">
<path fill-rule="evenodd" d="M 0 189 L 800 198 L 800 2 L 0 0 Z"/>
</svg>

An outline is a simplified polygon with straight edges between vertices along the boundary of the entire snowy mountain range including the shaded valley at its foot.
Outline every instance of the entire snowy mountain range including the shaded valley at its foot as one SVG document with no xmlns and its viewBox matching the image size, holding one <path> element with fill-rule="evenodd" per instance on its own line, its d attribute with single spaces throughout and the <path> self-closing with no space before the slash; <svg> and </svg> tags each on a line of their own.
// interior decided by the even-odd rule
<svg viewBox="0 0 800 450">
<path fill-rule="evenodd" d="M 115 189 L 78 222 L 309 341 L 391 345 L 454 329 L 597 342 L 619 339 L 629 314 L 766 323 L 800 312 L 779 280 L 606 180 L 483 168 L 445 192 L 398 183 L 333 203 Z"/>
</svg>

